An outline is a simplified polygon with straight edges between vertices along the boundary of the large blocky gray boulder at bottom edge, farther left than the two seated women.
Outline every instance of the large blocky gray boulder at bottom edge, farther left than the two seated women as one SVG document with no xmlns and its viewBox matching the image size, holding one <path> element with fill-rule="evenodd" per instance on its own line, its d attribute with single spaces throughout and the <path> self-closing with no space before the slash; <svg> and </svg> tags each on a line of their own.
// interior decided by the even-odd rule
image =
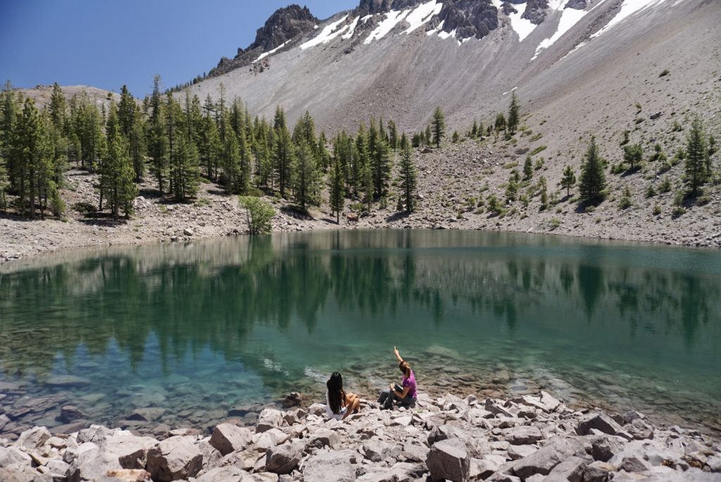
<svg viewBox="0 0 721 482">
<path fill-rule="evenodd" d="M 193 437 L 170 437 L 148 452 L 147 470 L 154 481 L 180 481 L 195 477 L 203 467 L 203 454 Z"/>
</svg>

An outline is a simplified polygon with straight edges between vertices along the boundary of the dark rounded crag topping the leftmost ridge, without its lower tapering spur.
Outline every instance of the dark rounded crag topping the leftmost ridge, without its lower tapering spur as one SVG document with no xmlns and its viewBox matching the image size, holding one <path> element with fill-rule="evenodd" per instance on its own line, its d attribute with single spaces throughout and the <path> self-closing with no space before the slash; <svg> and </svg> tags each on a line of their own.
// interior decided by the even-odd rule
<svg viewBox="0 0 721 482">
<path fill-rule="evenodd" d="M 247 50 L 262 48 L 270 51 L 288 40 L 305 35 L 314 29 L 319 20 L 311 14 L 307 6 L 296 4 L 276 10 L 265 25 L 257 30 L 255 42 Z"/>
</svg>

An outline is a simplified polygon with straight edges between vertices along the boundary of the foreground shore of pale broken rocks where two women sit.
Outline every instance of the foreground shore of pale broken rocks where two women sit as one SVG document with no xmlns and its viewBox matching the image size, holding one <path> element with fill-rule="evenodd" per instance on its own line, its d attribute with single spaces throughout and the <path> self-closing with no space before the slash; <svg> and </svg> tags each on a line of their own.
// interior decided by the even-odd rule
<svg viewBox="0 0 721 482">
<path fill-rule="evenodd" d="M 212 432 L 212 433 L 211 433 Z M 255 427 L 154 437 L 93 425 L 0 435 L 2 481 L 721 481 L 721 441 L 635 411 L 576 411 L 549 393 L 420 395 L 415 407 L 327 421 L 319 403 Z"/>
</svg>

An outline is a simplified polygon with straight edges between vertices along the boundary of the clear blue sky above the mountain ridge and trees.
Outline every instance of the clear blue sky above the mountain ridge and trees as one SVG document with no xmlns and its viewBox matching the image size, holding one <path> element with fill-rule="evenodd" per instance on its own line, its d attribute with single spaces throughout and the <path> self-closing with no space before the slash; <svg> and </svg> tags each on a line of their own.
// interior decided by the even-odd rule
<svg viewBox="0 0 721 482">
<path fill-rule="evenodd" d="M 143 97 L 208 71 L 255 40 L 290 0 L 1 0 L 0 82 L 88 84 Z M 319 19 L 359 0 L 306 0 Z"/>
</svg>

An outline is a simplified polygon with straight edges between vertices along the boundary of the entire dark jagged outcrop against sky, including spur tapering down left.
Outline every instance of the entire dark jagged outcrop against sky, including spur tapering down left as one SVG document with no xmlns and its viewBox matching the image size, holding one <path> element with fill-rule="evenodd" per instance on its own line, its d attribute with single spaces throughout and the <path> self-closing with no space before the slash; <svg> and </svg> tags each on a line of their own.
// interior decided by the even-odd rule
<svg viewBox="0 0 721 482">
<path fill-rule="evenodd" d="M 234 58 L 221 58 L 218 66 L 208 76 L 225 74 L 238 67 L 252 63 L 261 53 L 271 51 L 284 43 L 296 40 L 314 30 L 319 19 L 311 14 L 307 6 L 297 4 L 273 12 L 255 34 L 255 41 L 247 48 L 238 48 Z"/>
</svg>

